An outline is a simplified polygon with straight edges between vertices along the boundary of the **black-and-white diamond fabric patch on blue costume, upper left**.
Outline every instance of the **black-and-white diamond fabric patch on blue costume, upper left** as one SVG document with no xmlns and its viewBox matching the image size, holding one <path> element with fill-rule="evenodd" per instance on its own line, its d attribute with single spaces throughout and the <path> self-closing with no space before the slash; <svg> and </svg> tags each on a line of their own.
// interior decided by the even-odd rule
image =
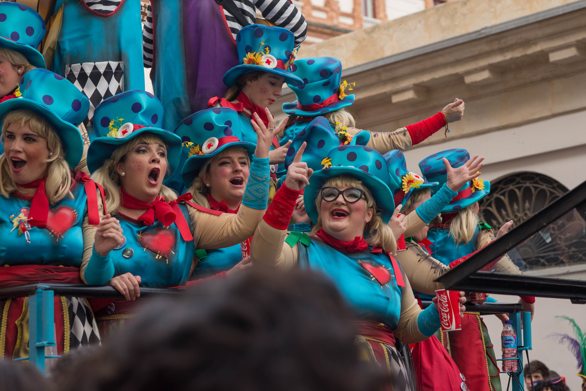
<svg viewBox="0 0 586 391">
<path fill-rule="evenodd" d="M 120 61 L 103 61 L 65 66 L 65 78 L 90 100 L 90 111 L 83 124 L 92 126 L 94 108 L 105 98 L 124 91 L 124 67 Z"/>
</svg>

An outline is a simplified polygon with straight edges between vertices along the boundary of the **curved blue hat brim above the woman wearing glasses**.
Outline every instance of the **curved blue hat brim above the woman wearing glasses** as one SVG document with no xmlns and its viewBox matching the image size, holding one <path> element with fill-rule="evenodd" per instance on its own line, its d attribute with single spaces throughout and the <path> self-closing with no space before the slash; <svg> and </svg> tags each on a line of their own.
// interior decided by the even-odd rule
<svg viewBox="0 0 586 391">
<path fill-rule="evenodd" d="M 315 199 L 318 197 L 319 190 L 322 188 L 323 183 L 340 175 L 352 176 L 352 178 L 362 181 L 364 186 L 366 186 L 372 194 L 374 201 L 376 202 L 376 207 L 381 211 L 383 222 L 385 224 L 389 222 L 391 217 L 393 217 L 395 203 L 393 200 L 393 194 L 386 183 L 359 168 L 332 166 L 330 168 L 314 171 L 314 174 L 309 181 L 309 185 L 305 186 L 303 195 L 305 211 L 314 224 L 318 222 L 318 210 L 315 206 Z"/>
</svg>

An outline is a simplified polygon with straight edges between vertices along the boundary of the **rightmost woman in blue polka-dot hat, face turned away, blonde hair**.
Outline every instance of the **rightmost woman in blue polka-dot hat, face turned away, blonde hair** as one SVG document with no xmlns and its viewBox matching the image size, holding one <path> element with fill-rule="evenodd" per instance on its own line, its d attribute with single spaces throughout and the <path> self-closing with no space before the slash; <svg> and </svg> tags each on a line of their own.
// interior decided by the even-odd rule
<svg viewBox="0 0 586 391">
<path fill-rule="evenodd" d="M 466 149 L 448 149 L 424 158 L 419 162 L 419 167 L 425 180 L 445 183 L 447 175 L 444 164 L 458 168 L 464 165 L 469 157 Z M 432 192 L 434 192 L 433 189 Z M 478 216 L 478 200 L 489 192 L 490 182 L 484 181 L 479 176 L 458 189 L 458 194 L 442 209 L 441 219 L 438 219 L 435 224 L 432 222 L 428 230 L 427 239 L 430 241 L 428 250 L 432 257 L 449 265 L 452 261 L 482 249 L 495 240 L 491 227 L 481 223 Z M 505 223 L 499 233 L 506 232 L 511 225 L 512 222 Z M 507 255 L 492 265 L 492 270 L 499 273 L 522 274 Z M 519 302 L 525 311 L 533 314 L 535 298 L 521 297 Z M 486 361 L 485 358 L 485 356 L 495 358 L 490 348 L 490 337 L 486 326 L 478 315 L 464 315 L 462 332 L 452 334 L 450 338 L 452 358 L 466 379 L 469 379 L 470 389 L 488 390 L 489 384 L 499 389 L 500 380 L 498 376 L 494 376 L 498 373 L 498 368 L 490 363 L 490 359 Z M 470 348 L 470 346 L 479 346 L 479 341 L 483 341 L 481 349 Z M 488 363 L 488 368 L 477 365 L 478 362 L 485 361 Z"/>
</svg>

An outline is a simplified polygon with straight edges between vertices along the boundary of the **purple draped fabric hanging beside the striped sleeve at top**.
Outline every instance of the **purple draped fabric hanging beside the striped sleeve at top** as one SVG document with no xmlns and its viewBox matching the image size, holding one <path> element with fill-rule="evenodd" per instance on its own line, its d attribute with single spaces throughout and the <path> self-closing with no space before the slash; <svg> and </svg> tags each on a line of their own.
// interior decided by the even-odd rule
<svg viewBox="0 0 586 391">
<path fill-rule="evenodd" d="M 192 112 L 207 108 L 214 96 L 224 96 L 228 87 L 222 77 L 240 62 L 231 33 L 214 0 L 183 0 L 183 42 Z"/>
</svg>

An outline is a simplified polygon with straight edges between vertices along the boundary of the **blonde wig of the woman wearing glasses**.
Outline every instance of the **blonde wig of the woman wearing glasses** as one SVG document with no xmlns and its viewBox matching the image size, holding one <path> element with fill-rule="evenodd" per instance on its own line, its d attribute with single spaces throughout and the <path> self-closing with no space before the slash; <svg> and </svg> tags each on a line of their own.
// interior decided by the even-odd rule
<svg viewBox="0 0 586 391">
<path fill-rule="evenodd" d="M 393 231 L 387 226 L 383 219 L 380 217 L 380 212 L 377 211 L 376 202 L 369 189 L 363 185 L 358 179 L 350 176 L 335 176 L 322 185 L 322 188 L 332 187 L 336 189 L 342 188 L 357 188 L 364 191 L 366 196 L 366 209 L 372 209 L 373 215 L 370 222 L 364 226 L 364 239 L 370 246 L 379 246 L 389 251 L 389 253 L 395 253 L 397 250 L 397 240 L 393 235 Z M 318 192 L 318 196 L 315 199 L 315 206 L 318 209 L 318 222 L 312 229 L 311 234 L 314 235 L 322 227 L 322 217 L 320 211 L 322 209 L 322 192 Z"/>
</svg>

